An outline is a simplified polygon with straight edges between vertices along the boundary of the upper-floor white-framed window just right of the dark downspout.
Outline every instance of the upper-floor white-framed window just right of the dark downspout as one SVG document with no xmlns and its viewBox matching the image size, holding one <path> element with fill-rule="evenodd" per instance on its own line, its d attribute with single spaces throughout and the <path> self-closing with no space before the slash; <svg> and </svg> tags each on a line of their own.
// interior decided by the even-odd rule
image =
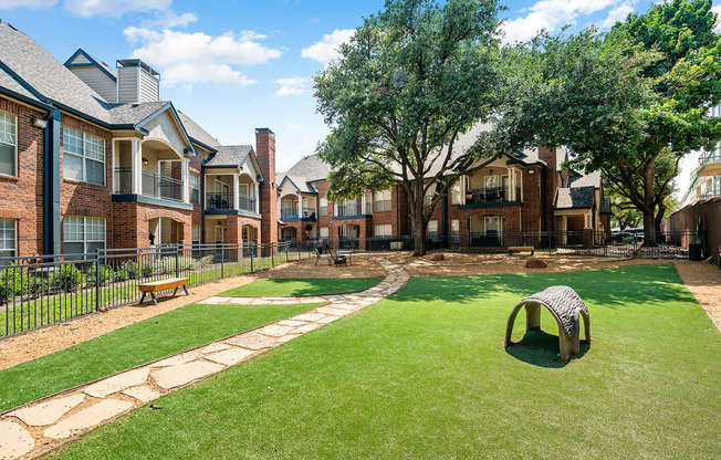
<svg viewBox="0 0 721 460">
<path fill-rule="evenodd" d="M 105 140 L 63 126 L 63 177 L 105 185 Z"/>
</svg>

